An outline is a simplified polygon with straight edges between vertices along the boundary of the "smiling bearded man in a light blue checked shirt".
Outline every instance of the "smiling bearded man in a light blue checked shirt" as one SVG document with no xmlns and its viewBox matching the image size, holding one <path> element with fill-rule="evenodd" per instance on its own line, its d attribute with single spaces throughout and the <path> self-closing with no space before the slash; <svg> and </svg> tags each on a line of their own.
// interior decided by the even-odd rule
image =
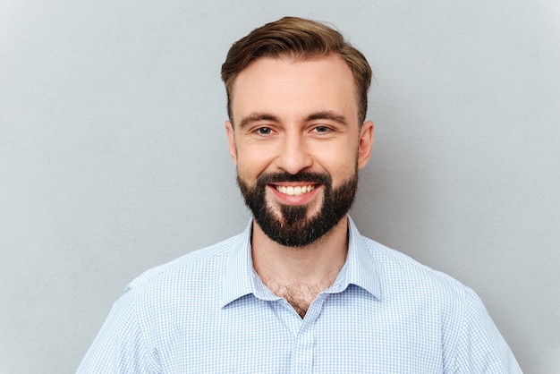
<svg viewBox="0 0 560 374">
<path fill-rule="evenodd" d="M 135 279 L 79 372 L 521 372 L 471 289 L 348 217 L 373 141 L 359 51 L 284 18 L 236 42 L 222 79 L 254 219 Z"/>
</svg>

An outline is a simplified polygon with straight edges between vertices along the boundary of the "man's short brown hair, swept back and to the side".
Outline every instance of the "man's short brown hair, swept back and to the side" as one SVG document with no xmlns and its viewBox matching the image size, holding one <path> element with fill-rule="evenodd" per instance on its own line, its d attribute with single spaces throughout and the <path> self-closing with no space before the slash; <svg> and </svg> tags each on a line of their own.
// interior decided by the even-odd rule
<svg viewBox="0 0 560 374">
<path fill-rule="evenodd" d="M 350 67 L 358 98 L 359 126 L 368 111 L 368 91 L 371 67 L 366 57 L 344 40 L 340 32 L 318 21 L 298 17 L 284 17 L 267 23 L 233 43 L 225 63 L 222 64 L 222 81 L 227 93 L 227 115 L 233 122 L 233 82 L 237 75 L 260 57 L 314 58 L 330 54 L 340 55 Z"/>
</svg>

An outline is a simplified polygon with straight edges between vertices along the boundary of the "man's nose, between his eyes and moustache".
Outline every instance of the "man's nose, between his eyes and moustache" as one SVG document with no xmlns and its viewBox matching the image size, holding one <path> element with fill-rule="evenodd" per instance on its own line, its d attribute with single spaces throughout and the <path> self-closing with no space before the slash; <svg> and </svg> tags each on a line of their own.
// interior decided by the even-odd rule
<svg viewBox="0 0 560 374">
<path fill-rule="evenodd" d="M 301 133 L 284 133 L 276 166 L 290 174 L 297 174 L 313 164 L 309 146 Z"/>
</svg>

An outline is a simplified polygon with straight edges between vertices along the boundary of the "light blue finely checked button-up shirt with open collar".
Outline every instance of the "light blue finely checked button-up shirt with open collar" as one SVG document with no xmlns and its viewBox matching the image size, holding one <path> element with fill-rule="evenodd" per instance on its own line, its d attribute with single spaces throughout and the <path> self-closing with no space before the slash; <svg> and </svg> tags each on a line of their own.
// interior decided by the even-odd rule
<svg viewBox="0 0 560 374">
<path fill-rule="evenodd" d="M 304 319 L 252 267 L 250 227 L 127 286 L 79 373 L 520 373 L 479 297 L 361 236 Z"/>
</svg>

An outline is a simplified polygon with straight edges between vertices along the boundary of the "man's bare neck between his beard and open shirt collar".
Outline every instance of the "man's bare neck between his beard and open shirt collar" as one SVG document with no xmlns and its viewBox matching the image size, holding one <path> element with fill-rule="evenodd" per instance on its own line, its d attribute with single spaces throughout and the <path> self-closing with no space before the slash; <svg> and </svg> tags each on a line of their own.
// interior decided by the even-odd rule
<svg viewBox="0 0 560 374">
<path fill-rule="evenodd" d="M 270 240 L 254 222 L 251 238 L 255 271 L 265 285 L 284 297 L 286 287 L 313 290 L 314 299 L 335 281 L 348 251 L 348 217 L 344 217 L 318 242 L 306 247 L 285 247 Z M 312 302 L 312 300 L 311 300 Z"/>
</svg>

